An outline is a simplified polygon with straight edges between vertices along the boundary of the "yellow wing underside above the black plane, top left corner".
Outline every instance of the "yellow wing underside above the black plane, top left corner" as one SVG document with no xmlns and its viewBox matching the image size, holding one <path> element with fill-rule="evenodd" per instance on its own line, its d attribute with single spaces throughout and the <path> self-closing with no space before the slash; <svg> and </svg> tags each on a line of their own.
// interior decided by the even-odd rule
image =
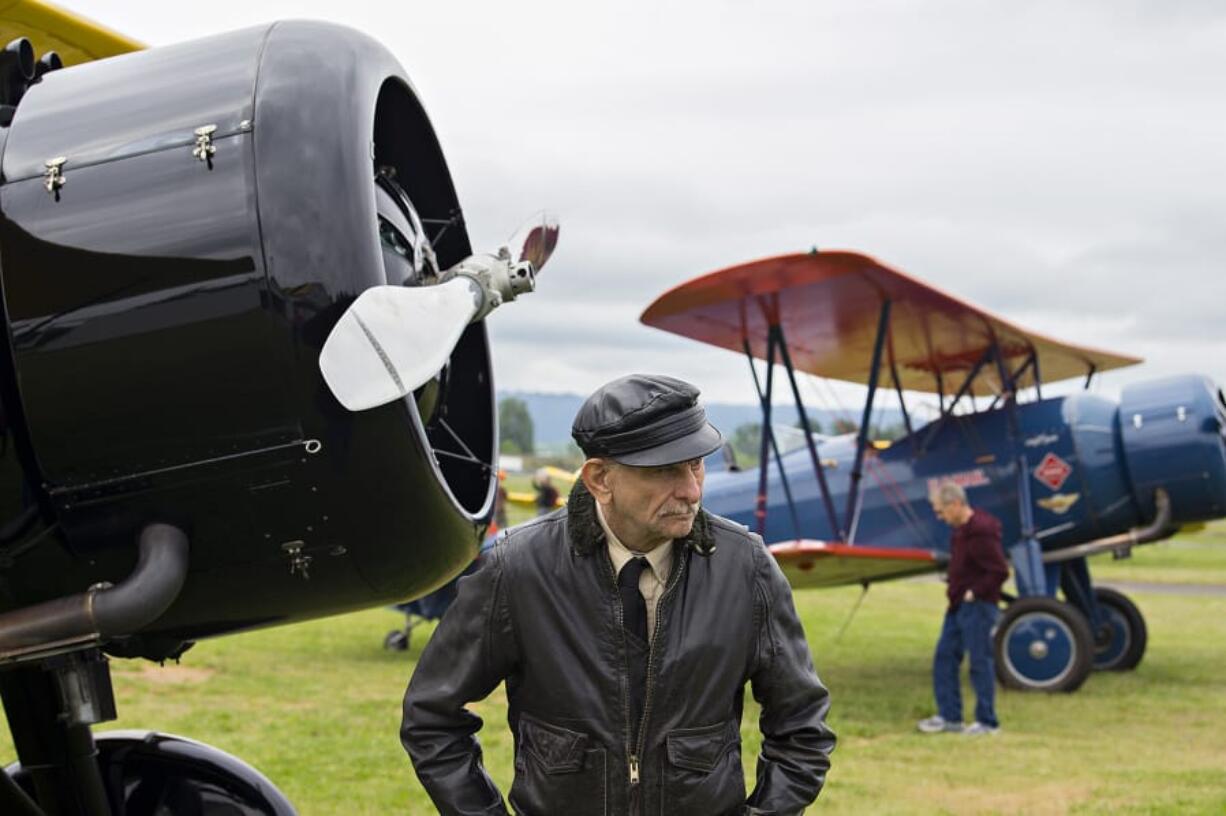
<svg viewBox="0 0 1226 816">
<path fill-rule="evenodd" d="M 38 56 L 59 53 L 65 65 L 145 48 L 130 37 L 38 0 L 0 0 L 0 47 L 18 37 L 28 37 Z"/>
</svg>

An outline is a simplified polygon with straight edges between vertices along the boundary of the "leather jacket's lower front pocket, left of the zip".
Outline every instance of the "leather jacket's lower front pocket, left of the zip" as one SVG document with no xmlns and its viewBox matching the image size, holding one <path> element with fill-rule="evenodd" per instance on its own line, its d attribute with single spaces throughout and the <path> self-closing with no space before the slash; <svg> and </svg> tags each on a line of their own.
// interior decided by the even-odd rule
<svg viewBox="0 0 1226 816">
<path fill-rule="evenodd" d="M 521 816 L 606 816 L 607 757 L 587 734 L 520 714 L 510 804 Z"/>
</svg>

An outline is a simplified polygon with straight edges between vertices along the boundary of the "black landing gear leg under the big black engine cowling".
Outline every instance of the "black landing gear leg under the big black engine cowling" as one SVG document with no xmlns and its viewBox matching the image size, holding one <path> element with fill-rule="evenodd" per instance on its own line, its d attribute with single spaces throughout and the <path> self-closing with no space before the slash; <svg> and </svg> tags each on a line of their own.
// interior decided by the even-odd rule
<svg viewBox="0 0 1226 816">
<path fill-rule="evenodd" d="M 0 696 L 42 812 L 110 816 L 89 730 L 115 718 L 107 659 L 91 651 L 9 669 L 0 673 Z"/>
</svg>

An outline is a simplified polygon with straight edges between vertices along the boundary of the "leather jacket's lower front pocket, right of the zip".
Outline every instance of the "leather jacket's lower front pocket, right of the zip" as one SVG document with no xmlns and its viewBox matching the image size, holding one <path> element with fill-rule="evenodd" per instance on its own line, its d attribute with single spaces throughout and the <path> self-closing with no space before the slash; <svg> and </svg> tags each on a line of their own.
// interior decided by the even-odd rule
<svg viewBox="0 0 1226 816">
<path fill-rule="evenodd" d="M 734 719 L 679 728 L 664 739 L 664 814 L 739 814 L 745 803 L 741 728 Z"/>
</svg>

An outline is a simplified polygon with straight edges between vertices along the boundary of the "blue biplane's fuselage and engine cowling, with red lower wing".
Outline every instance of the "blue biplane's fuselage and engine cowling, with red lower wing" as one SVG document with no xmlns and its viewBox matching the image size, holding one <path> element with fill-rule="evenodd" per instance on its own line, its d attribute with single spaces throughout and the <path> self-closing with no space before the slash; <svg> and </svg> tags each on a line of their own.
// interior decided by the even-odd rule
<svg viewBox="0 0 1226 816">
<path fill-rule="evenodd" d="M 901 577 L 932 570 L 949 553 L 949 527 L 929 505 L 932 489 L 951 479 L 971 504 L 999 517 L 1005 542 L 1022 538 L 1018 469 L 1030 480 L 1035 535 L 1045 553 L 1116 535 L 1154 516 L 1154 490 L 1163 488 L 1173 526 L 1226 515 L 1226 401 L 1203 377 L 1187 376 L 1124 388 L 1121 401 L 1089 392 L 1018 407 L 1024 464 L 1010 444 L 1005 410 L 946 415 L 869 448 L 858 511 L 843 542 L 823 511 L 807 451 L 782 457 L 793 496 L 790 512 L 777 472 L 770 480 L 764 537 L 793 586 L 817 587 Z M 835 507 L 850 489 L 856 436 L 819 437 L 817 451 Z M 710 473 L 704 504 L 755 528 L 758 473 Z M 829 557 L 817 549 L 788 557 L 794 540 L 817 548 L 862 542 L 864 549 L 916 550 L 911 559 Z M 901 553 L 900 553 L 901 555 Z M 924 556 L 931 556 L 926 559 Z"/>
</svg>

